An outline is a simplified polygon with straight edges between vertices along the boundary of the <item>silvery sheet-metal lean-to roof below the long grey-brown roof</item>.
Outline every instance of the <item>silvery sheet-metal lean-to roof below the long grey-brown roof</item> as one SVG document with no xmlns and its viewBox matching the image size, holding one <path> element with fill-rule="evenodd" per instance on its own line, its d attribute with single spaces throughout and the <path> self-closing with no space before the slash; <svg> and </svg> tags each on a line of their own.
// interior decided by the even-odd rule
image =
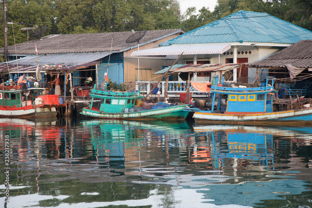
<svg viewBox="0 0 312 208">
<path fill-rule="evenodd" d="M 75 70 L 86 68 L 91 65 L 99 63 L 99 59 L 108 56 L 110 52 L 105 53 L 90 53 L 90 54 L 51 54 L 39 55 L 38 63 L 42 71 L 48 70 Z M 10 72 L 14 71 L 34 71 L 37 68 L 37 56 L 25 56 L 18 60 L 0 63 L 0 72 L 5 73 L 8 71 L 9 65 Z M 45 65 L 50 65 L 48 68 Z M 52 65 L 62 65 L 62 67 L 52 67 Z"/>
</svg>

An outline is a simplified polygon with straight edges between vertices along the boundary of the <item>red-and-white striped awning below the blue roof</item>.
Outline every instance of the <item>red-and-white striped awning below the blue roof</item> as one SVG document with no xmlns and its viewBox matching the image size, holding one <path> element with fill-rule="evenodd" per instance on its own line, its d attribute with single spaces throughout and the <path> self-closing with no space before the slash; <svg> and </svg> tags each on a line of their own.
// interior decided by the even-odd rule
<svg viewBox="0 0 312 208">
<path fill-rule="evenodd" d="M 168 55 L 195 55 L 195 54 L 222 54 L 231 48 L 226 44 L 198 44 L 198 45 L 173 45 L 134 51 L 130 56 L 168 56 Z"/>
</svg>

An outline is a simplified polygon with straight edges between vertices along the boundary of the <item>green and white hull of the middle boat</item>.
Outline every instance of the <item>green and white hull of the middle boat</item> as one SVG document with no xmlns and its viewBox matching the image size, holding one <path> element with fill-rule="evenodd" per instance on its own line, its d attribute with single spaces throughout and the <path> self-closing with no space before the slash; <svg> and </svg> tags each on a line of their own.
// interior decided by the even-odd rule
<svg viewBox="0 0 312 208">
<path fill-rule="evenodd" d="M 105 113 L 87 108 L 82 109 L 80 114 L 102 119 L 128 119 L 128 120 L 183 120 L 188 112 L 183 111 L 187 105 L 177 105 L 168 108 L 145 110 L 131 113 Z"/>
</svg>

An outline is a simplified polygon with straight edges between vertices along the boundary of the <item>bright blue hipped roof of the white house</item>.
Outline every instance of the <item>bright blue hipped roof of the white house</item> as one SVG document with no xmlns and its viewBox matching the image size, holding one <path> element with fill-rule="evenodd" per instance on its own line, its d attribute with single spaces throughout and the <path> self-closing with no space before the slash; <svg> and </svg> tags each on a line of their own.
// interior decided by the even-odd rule
<svg viewBox="0 0 312 208">
<path fill-rule="evenodd" d="M 268 13 L 238 11 L 159 44 L 262 42 L 293 44 L 312 39 L 312 31 Z"/>
</svg>

